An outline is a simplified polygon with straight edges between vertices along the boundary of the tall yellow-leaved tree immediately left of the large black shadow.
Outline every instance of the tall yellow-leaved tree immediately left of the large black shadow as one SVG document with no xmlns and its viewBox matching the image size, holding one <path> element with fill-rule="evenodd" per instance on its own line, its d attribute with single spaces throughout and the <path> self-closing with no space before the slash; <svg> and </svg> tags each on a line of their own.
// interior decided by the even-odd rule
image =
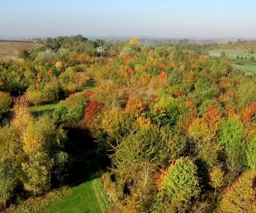
<svg viewBox="0 0 256 213">
<path fill-rule="evenodd" d="M 49 189 L 53 168 L 61 170 L 67 161 L 67 154 L 60 150 L 64 137 L 49 115 L 27 126 L 23 150 L 28 160 L 22 163 L 26 190 L 40 193 Z"/>
</svg>

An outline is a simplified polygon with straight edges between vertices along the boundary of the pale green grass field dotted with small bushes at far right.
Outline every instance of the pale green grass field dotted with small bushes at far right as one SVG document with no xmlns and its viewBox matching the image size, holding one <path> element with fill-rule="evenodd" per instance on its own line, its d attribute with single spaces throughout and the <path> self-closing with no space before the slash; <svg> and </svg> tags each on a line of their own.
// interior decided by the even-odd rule
<svg viewBox="0 0 256 213">
<path fill-rule="evenodd" d="M 232 66 L 241 69 L 247 74 L 256 73 L 256 62 L 249 61 L 249 58 L 252 56 L 256 58 L 256 53 L 250 54 L 246 49 L 215 49 L 209 51 L 209 55 L 212 57 L 219 57 L 221 55 L 221 52 L 225 52 L 227 57 L 232 59 Z M 239 55 L 239 57 L 243 56 L 243 58 L 247 57 L 247 60 L 237 60 L 237 55 Z M 243 63 L 243 65 L 239 65 L 238 63 L 236 63 L 237 61 Z"/>
</svg>

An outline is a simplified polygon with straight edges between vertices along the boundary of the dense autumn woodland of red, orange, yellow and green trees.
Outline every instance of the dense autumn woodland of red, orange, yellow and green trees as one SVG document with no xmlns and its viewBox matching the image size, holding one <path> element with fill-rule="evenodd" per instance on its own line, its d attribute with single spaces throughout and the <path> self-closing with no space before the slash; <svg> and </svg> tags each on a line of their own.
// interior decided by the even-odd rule
<svg viewBox="0 0 256 213">
<path fill-rule="evenodd" d="M 105 212 L 256 212 L 256 75 L 209 55 L 255 41 L 36 43 L 0 59 L 0 211 L 97 174 Z"/>
</svg>

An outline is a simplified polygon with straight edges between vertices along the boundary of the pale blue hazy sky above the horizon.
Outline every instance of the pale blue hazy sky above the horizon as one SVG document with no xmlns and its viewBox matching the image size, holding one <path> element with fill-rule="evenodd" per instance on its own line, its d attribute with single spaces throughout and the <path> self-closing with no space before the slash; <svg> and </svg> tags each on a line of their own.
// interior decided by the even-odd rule
<svg viewBox="0 0 256 213">
<path fill-rule="evenodd" d="M 0 0 L 0 7 L 0 37 L 256 37 L 256 0 Z"/>
</svg>

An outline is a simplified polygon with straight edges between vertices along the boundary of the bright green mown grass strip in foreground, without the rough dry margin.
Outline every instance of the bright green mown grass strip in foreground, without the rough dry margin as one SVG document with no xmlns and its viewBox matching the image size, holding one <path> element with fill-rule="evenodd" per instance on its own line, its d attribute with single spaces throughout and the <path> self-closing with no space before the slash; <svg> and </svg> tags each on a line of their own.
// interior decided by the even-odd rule
<svg viewBox="0 0 256 213">
<path fill-rule="evenodd" d="M 41 213 L 107 213 L 108 201 L 99 178 L 91 176 L 78 186 L 72 187 L 68 195 L 47 206 Z"/>
</svg>

